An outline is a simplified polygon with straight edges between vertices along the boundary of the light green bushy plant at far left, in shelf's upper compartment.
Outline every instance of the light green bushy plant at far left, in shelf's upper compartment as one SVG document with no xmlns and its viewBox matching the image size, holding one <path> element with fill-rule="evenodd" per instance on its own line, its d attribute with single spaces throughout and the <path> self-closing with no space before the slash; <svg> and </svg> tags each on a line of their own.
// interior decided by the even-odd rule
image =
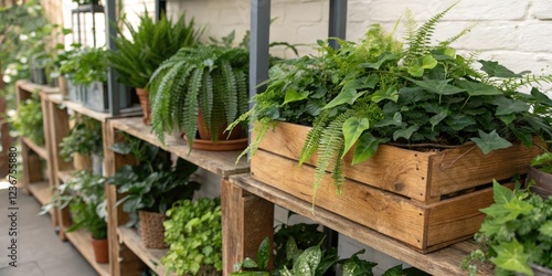
<svg viewBox="0 0 552 276">
<path fill-rule="evenodd" d="M 44 146 L 44 128 L 42 123 L 42 105 L 38 96 L 20 103 L 17 113 L 9 118 L 18 131 L 18 136 L 26 137 L 39 146 Z"/>
</svg>

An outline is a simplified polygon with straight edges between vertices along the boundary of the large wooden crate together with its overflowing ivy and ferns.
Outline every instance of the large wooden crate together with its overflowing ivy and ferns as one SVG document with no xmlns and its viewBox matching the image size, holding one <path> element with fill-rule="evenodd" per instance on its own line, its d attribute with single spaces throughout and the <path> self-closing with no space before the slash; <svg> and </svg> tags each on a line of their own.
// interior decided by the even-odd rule
<svg viewBox="0 0 552 276">
<path fill-rule="evenodd" d="M 420 26 L 407 19 L 407 46 L 372 25 L 359 43 L 320 41 L 319 55 L 272 67 L 241 118 L 254 124 L 243 152 L 254 153 L 253 178 L 423 252 L 475 233 L 492 179 L 526 173 L 541 152 L 534 138 L 551 135 L 540 115 L 550 99 L 520 91 L 552 77 L 456 53 L 468 30 L 429 44 L 449 9 Z M 437 223 L 447 209 L 457 211 Z"/>
</svg>

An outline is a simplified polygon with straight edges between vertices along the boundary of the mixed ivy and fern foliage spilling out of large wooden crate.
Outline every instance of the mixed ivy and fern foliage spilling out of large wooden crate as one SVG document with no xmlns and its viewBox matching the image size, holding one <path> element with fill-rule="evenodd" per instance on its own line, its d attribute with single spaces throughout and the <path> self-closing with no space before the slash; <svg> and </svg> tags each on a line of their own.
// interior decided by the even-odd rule
<svg viewBox="0 0 552 276">
<path fill-rule="evenodd" d="M 312 126 L 299 163 L 318 151 L 315 192 L 326 171 L 332 171 L 339 191 L 342 158 L 351 150 L 355 164 L 381 144 L 443 149 L 473 141 L 488 153 L 511 141 L 531 146 L 534 136 L 550 137 L 550 118 L 541 114 L 550 114 L 552 100 L 538 88 L 520 89 L 550 83 L 552 76 L 514 73 L 493 61 L 457 54 L 450 44 L 469 29 L 429 44 L 453 7 L 421 26 L 407 14 L 405 49 L 372 25 L 359 43 L 337 40 L 340 49 L 335 50 L 319 41 L 319 55 L 272 67 L 266 91 L 235 123 L 248 120 L 257 132 L 242 156 L 255 153 L 277 121 Z M 479 70 L 473 67 L 476 62 Z"/>
</svg>

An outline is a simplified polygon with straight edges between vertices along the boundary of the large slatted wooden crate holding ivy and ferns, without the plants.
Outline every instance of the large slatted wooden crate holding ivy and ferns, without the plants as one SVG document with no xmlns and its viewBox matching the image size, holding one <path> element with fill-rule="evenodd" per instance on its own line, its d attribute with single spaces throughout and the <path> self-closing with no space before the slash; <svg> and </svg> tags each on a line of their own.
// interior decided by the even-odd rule
<svg viewBox="0 0 552 276">
<path fill-rule="evenodd" d="M 316 156 L 297 166 L 308 131 L 287 123 L 268 130 L 251 161 L 253 178 L 310 202 Z M 481 185 L 526 173 L 538 153 L 538 147 L 521 145 L 488 155 L 475 145 L 438 152 L 382 145 L 355 166 L 347 155 L 342 193 L 328 173 L 316 205 L 426 253 L 477 232 L 485 219 L 479 209 L 492 203 L 492 190 Z"/>
</svg>

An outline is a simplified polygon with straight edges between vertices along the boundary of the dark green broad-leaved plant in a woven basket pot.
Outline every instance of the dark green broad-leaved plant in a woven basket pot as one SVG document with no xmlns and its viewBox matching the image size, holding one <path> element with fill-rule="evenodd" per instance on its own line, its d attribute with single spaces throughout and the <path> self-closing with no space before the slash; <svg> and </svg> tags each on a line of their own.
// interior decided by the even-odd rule
<svg viewBox="0 0 552 276">
<path fill-rule="evenodd" d="M 118 192 L 125 194 L 117 204 L 123 203 L 123 211 L 129 213 L 127 226 L 135 226 L 139 221 L 147 247 L 167 247 L 163 243 L 164 212 L 178 200 L 192 199 L 194 191 L 200 189 L 200 183 L 190 180 L 198 167 L 180 158 L 172 166 L 167 151 L 130 136 L 126 144 L 116 144 L 113 150 L 132 153 L 138 163 L 124 166 L 109 179 Z"/>
</svg>

